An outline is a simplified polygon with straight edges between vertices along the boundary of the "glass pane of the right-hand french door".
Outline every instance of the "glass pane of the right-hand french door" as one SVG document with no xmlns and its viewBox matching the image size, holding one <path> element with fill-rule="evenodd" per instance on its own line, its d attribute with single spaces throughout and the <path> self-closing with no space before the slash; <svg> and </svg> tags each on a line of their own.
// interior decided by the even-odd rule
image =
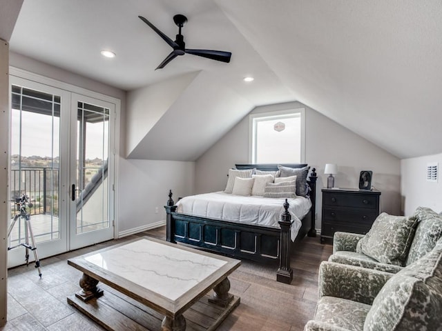
<svg viewBox="0 0 442 331">
<path fill-rule="evenodd" d="M 77 104 L 77 234 L 109 227 L 109 109 Z"/>
</svg>

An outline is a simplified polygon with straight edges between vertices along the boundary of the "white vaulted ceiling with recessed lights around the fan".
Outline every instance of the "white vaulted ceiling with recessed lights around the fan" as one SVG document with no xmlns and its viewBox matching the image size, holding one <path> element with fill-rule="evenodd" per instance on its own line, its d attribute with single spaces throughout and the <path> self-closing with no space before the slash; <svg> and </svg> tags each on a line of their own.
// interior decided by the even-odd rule
<svg viewBox="0 0 442 331">
<path fill-rule="evenodd" d="M 137 16 L 175 39 L 178 13 L 188 48 L 231 63 L 186 54 L 155 71 L 171 48 Z M 24 0 L 10 50 L 129 95 L 195 74 L 130 157 L 173 159 L 173 144 L 193 160 L 253 107 L 298 100 L 405 158 L 442 152 L 441 22 L 439 0 Z M 166 130 L 193 147 L 159 143 Z"/>
</svg>

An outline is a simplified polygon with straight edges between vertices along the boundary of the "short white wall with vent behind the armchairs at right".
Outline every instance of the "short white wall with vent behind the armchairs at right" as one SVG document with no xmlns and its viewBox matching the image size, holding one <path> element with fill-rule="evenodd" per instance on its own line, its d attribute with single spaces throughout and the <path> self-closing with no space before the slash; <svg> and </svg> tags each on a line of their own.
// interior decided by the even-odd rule
<svg viewBox="0 0 442 331">
<path fill-rule="evenodd" d="M 439 181 L 427 181 L 427 163 L 439 163 Z M 442 211 L 442 154 L 427 155 L 401 160 L 402 208 L 405 215 L 410 215 L 417 207 L 432 208 Z"/>
</svg>

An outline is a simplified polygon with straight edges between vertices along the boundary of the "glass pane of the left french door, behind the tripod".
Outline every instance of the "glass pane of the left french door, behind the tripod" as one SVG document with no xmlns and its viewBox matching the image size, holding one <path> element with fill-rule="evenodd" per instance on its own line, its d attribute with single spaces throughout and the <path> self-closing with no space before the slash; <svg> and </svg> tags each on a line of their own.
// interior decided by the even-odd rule
<svg viewBox="0 0 442 331">
<path fill-rule="evenodd" d="M 59 239 L 60 101 L 57 95 L 12 86 L 10 197 L 10 246 L 26 241 L 26 212 L 36 243 Z"/>
</svg>

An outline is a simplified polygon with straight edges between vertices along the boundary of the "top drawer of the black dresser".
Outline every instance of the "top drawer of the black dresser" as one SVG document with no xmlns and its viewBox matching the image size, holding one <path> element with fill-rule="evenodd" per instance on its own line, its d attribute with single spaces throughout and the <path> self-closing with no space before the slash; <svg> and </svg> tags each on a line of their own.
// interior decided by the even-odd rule
<svg viewBox="0 0 442 331">
<path fill-rule="evenodd" d="M 373 194 L 332 193 L 323 194 L 323 205 L 378 210 L 378 197 Z"/>
</svg>

